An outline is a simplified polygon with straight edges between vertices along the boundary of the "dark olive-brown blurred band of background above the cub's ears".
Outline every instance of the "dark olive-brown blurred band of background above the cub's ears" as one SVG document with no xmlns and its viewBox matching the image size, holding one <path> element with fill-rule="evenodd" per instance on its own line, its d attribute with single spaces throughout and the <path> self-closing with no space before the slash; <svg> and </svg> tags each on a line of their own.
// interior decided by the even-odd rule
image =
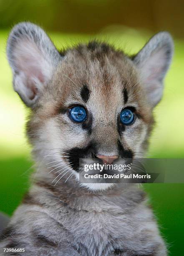
<svg viewBox="0 0 184 256">
<path fill-rule="evenodd" d="M 109 25 L 184 37 L 183 0 L 0 0 L 0 28 L 32 20 L 50 31 L 98 33 Z"/>
</svg>

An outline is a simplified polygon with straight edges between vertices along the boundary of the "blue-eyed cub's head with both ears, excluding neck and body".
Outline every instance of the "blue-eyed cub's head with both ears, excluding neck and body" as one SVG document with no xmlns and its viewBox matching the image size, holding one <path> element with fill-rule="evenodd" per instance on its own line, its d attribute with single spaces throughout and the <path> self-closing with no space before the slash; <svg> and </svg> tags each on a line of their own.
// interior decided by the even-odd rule
<svg viewBox="0 0 184 256">
<path fill-rule="evenodd" d="M 144 156 L 172 53 L 167 32 L 129 57 L 96 41 L 60 53 L 38 26 L 13 28 L 7 54 L 14 90 L 32 110 L 27 134 L 54 184 L 77 178 L 80 158 L 112 164 Z"/>
</svg>

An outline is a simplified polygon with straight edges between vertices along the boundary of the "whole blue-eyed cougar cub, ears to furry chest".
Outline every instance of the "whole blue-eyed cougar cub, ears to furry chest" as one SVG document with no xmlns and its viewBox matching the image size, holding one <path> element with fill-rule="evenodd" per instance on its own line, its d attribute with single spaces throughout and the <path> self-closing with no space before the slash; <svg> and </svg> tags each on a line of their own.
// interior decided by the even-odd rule
<svg viewBox="0 0 184 256">
<path fill-rule="evenodd" d="M 172 53 L 167 32 L 127 56 L 97 41 L 59 52 L 40 27 L 13 28 L 8 61 L 14 90 L 31 109 L 37 168 L 2 248 L 26 256 L 167 254 L 145 193 L 133 184 L 82 184 L 78 162 L 144 156 Z"/>
</svg>

